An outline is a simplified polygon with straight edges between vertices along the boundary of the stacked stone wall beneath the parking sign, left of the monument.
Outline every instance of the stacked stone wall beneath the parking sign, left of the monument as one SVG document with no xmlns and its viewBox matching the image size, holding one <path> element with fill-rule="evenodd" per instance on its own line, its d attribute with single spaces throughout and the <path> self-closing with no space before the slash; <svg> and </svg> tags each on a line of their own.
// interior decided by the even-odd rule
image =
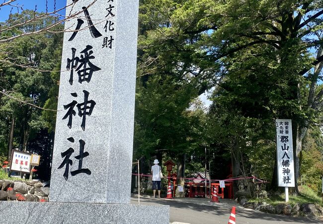
<svg viewBox="0 0 323 224">
<path fill-rule="evenodd" d="M 48 195 L 39 181 L 0 181 L 0 201 L 48 202 Z"/>
</svg>

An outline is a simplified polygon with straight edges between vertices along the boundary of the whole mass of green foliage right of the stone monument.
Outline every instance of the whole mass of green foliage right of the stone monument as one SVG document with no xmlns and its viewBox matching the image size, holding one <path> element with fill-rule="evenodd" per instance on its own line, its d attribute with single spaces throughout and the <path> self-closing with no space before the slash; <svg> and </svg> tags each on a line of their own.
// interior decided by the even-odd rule
<svg viewBox="0 0 323 224">
<path fill-rule="evenodd" d="M 322 44 L 315 32 L 322 18 L 310 16 L 320 10 L 321 1 L 141 1 L 136 157 L 162 149 L 164 156 L 185 153 L 194 164 L 210 144 L 213 153 L 225 152 L 224 160 L 238 153 L 239 173 L 270 181 L 274 120 L 291 118 L 294 140 L 322 121 L 322 72 L 309 71 Z M 212 86 L 208 114 L 189 112 L 189 103 Z M 318 162 L 306 154 L 305 163 Z"/>
</svg>

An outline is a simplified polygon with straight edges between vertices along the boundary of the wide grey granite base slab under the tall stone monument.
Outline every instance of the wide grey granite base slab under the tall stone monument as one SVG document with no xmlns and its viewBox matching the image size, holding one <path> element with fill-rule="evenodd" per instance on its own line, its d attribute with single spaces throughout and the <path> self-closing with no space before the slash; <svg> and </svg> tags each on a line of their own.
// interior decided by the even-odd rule
<svg viewBox="0 0 323 224">
<path fill-rule="evenodd" d="M 0 202 L 0 223 L 169 224 L 169 206 Z"/>
</svg>

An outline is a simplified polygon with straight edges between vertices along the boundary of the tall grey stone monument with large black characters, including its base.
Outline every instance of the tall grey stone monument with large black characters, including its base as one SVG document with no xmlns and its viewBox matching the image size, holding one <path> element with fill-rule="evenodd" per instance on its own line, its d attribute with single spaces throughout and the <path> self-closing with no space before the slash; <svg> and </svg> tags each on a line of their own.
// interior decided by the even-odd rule
<svg viewBox="0 0 323 224">
<path fill-rule="evenodd" d="M 50 202 L 1 202 L 0 223 L 169 223 L 130 205 L 138 4 L 67 0 Z"/>
</svg>

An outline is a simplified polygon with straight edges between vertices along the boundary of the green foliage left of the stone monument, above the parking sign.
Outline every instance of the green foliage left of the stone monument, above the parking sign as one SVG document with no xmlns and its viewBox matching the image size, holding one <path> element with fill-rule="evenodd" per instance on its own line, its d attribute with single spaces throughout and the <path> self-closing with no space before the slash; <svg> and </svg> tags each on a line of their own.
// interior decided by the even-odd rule
<svg viewBox="0 0 323 224">
<path fill-rule="evenodd" d="M 5 154 L 10 142 L 20 150 L 46 155 L 44 158 L 51 154 L 56 113 L 40 108 L 57 110 L 59 72 L 55 71 L 60 70 L 63 25 L 41 32 L 57 19 L 44 16 L 27 22 L 40 14 L 31 10 L 13 14 L 6 22 L 14 28 L 0 33 L 0 40 L 4 40 L 37 32 L 0 44 L 0 86 L 5 93 L 0 96 L 0 152 Z M 10 139 L 12 120 L 15 122 Z"/>
</svg>

